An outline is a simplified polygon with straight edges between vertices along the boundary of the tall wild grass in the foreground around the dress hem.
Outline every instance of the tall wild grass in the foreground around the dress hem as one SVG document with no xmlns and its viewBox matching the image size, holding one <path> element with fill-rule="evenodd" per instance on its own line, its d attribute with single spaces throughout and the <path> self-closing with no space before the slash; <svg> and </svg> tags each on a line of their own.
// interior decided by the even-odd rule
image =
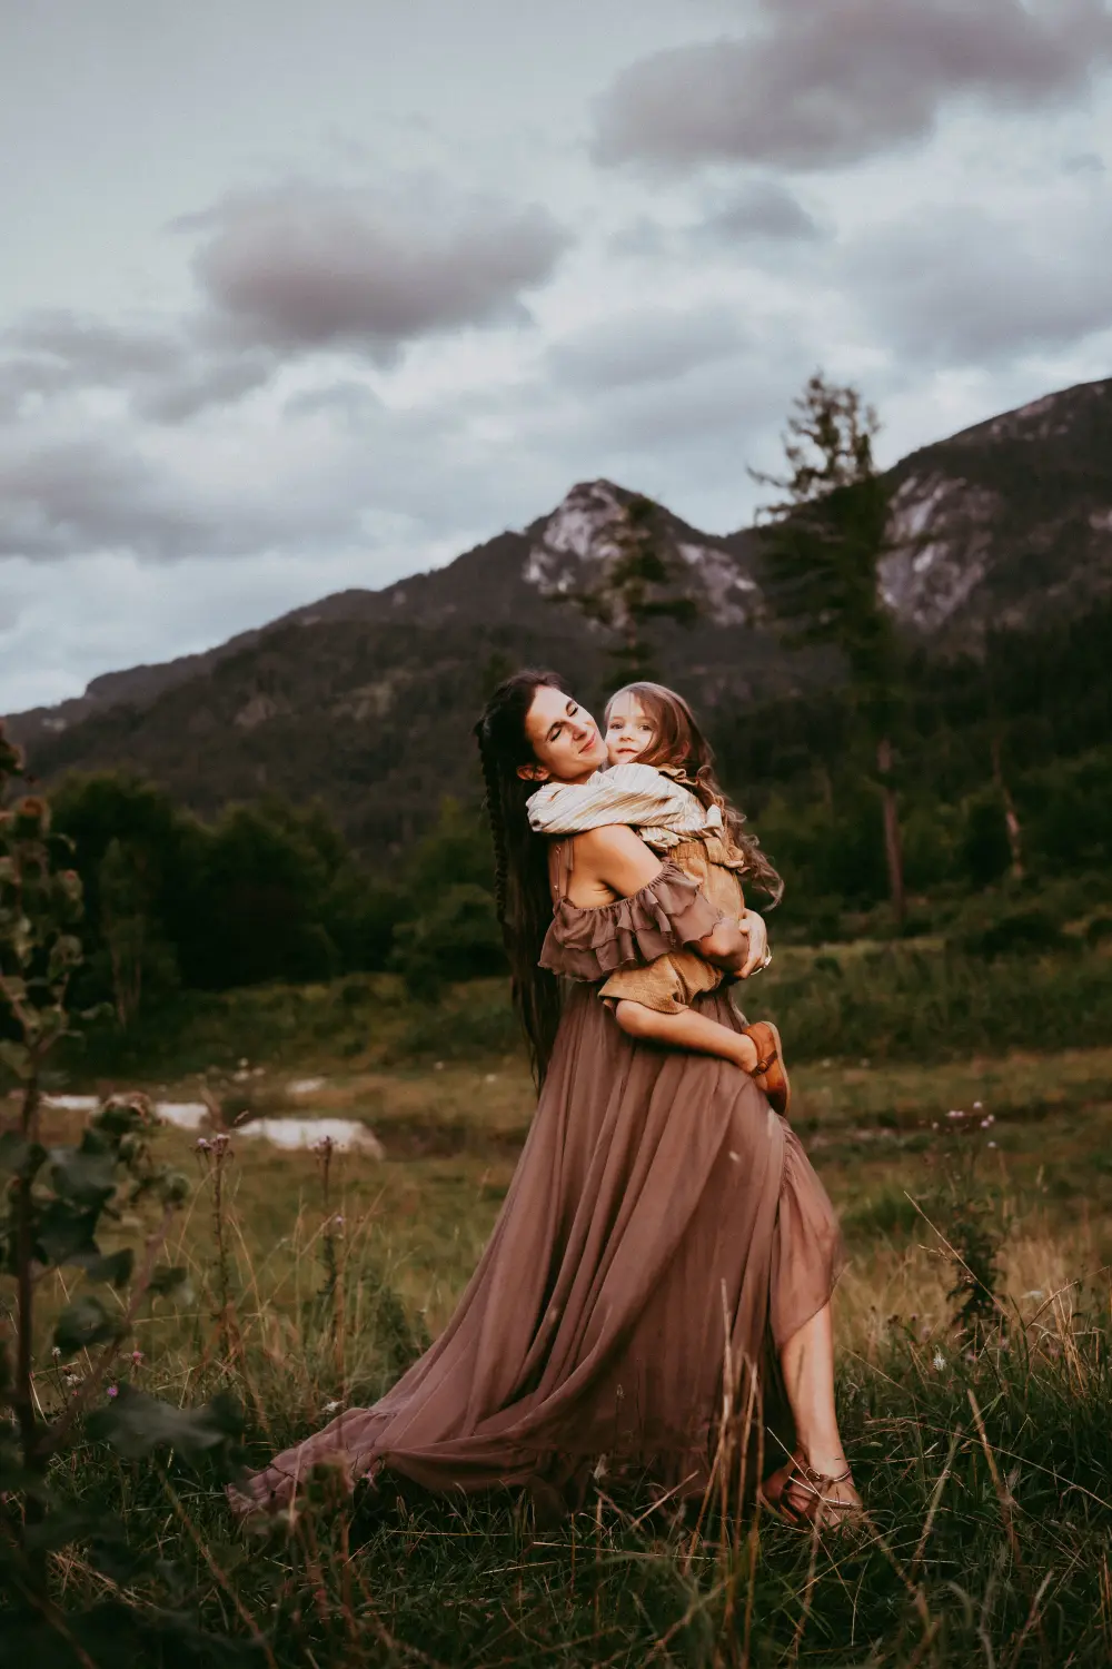
<svg viewBox="0 0 1112 1669">
<path fill-rule="evenodd" d="M 258 1465 L 380 1395 L 427 1330 L 402 1297 L 412 1232 L 385 1183 L 307 1157 L 275 1232 L 248 1208 L 255 1163 L 235 1137 L 218 1165 L 202 1150 L 173 1248 L 193 1305 L 150 1322 L 127 1370 L 183 1402 L 233 1390 Z M 120 1512 L 175 1567 L 178 1602 L 188 1596 L 210 1637 L 280 1669 L 1104 1664 L 1110 1293 L 1104 1275 L 1064 1275 L 1092 1265 L 1082 1235 L 1047 1238 L 1017 1210 L 1000 1227 L 1000 1325 L 977 1340 L 950 1322 L 944 1202 L 929 1208 L 935 1228 L 880 1205 L 850 1227 L 839 1404 L 869 1509 L 852 1537 L 792 1532 L 749 1499 L 739 1510 L 739 1479 L 722 1474 L 702 1512 L 619 1495 L 604 1475 L 584 1512 L 542 1529 L 508 1495 L 362 1489 L 348 1504 L 325 1472 L 295 1514 L 243 1534 L 215 1482 L 172 1460 L 85 1445 L 67 1465 L 87 1507 Z M 472 1262 L 468 1245 L 450 1265 L 455 1292 Z M 108 1579 L 78 1549 L 55 1582 L 77 1602 Z M 122 1597 L 167 1606 L 155 1577 Z M 217 1661 L 207 1654 L 157 1661 Z M 100 1661 L 120 1657 L 105 1647 Z"/>
</svg>

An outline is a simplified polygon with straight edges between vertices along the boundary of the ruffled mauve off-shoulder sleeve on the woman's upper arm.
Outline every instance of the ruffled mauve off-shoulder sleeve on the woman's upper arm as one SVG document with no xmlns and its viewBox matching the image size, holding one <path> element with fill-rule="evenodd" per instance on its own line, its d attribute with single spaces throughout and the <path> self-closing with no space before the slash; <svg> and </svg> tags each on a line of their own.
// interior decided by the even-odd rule
<svg viewBox="0 0 1112 1669">
<path fill-rule="evenodd" d="M 612 905 L 582 910 L 565 898 L 545 935 L 540 966 L 594 983 L 619 968 L 644 968 L 657 956 L 684 950 L 722 920 L 699 881 L 665 863 L 640 891 Z"/>
</svg>

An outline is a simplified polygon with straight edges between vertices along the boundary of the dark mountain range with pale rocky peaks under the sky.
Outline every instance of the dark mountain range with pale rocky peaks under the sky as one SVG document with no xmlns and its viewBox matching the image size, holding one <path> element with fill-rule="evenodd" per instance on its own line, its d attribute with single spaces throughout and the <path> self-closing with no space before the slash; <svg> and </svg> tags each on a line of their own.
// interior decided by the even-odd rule
<svg viewBox="0 0 1112 1669">
<path fill-rule="evenodd" d="M 929 653 L 989 629 L 1039 629 L 1112 594 L 1112 379 L 1050 394 L 890 471 L 882 589 Z M 574 486 L 523 531 L 380 591 L 342 591 L 203 654 L 93 679 L 83 696 L 8 718 L 30 768 L 128 768 L 202 814 L 282 793 L 323 799 L 363 851 L 397 850 L 445 794 L 475 789 L 468 731 L 490 683 L 520 663 L 595 699 L 605 638 L 567 606 L 614 549 L 632 494 Z M 700 604 L 664 626 L 662 673 L 699 709 L 737 711 L 837 678 L 767 621 L 762 536 L 707 534 L 660 507 L 659 529 Z"/>
</svg>

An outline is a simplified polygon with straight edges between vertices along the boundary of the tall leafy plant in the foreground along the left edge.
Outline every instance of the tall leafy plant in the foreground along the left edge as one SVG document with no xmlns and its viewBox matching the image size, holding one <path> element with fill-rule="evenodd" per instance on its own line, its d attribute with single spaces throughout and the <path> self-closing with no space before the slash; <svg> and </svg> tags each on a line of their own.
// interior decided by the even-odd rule
<svg viewBox="0 0 1112 1669">
<path fill-rule="evenodd" d="M 77 1143 L 48 1145 L 42 1077 L 50 1051 L 73 1031 L 82 886 L 68 841 L 52 833 L 47 801 L 12 796 L 22 776 L 20 751 L 0 724 L 0 1073 L 17 1085 L 7 1102 L 15 1117 L 0 1123 L 0 1631 L 12 1649 L 65 1641 L 68 1661 L 92 1662 L 80 1641 L 97 1607 L 62 1612 L 52 1554 L 80 1544 L 113 1581 L 137 1574 L 143 1561 L 128 1564 L 122 1527 L 82 1510 L 75 1469 L 52 1462 L 90 1440 L 128 1457 L 172 1445 L 187 1459 L 210 1452 L 227 1460 L 237 1414 L 232 1404 L 177 1409 L 117 1372 L 140 1312 L 183 1283 L 185 1272 L 160 1253 L 188 1183 L 155 1163 L 142 1095 L 107 1098 Z M 137 1210 L 150 1217 L 138 1258 L 118 1243 L 125 1215 Z M 68 1300 L 60 1312 L 58 1290 Z M 40 1367 L 47 1339 L 48 1367 Z"/>
</svg>

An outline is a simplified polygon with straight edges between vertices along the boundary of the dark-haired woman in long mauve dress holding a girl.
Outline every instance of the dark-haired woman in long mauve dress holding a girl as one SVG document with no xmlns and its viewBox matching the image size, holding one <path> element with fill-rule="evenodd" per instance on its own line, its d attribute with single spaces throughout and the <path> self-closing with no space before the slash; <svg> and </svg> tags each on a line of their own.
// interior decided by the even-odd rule
<svg viewBox="0 0 1112 1669">
<path fill-rule="evenodd" d="M 428 1489 L 523 1485 L 545 1509 L 580 1499 L 600 1465 L 697 1494 L 714 1472 L 724 1395 L 757 1407 L 750 1442 L 762 1394 L 772 1412 L 775 1352 L 795 1450 L 765 1480 L 765 1500 L 792 1522 L 837 1519 L 859 1499 L 834 1412 L 840 1240 L 829 1200 L 744 1071 L 627 1036 L 582 983 L 594 968 L 602 983 L 615 955 L 634 965 L 692 945 L 740 973 L 760 950 L 632 829 L 564 846 L 530 831 L 538 781 L 585 781 L 607 758 L 559 678 L 507 679 L 477 736 L 537 1115 L 440 1339 L 373 1409 L 278 1455 L 248 1497 L 288 1500 L 320 1460 Z M 564 1000 L 537 965 L 545 940 L 547 960 L 562 950 L 575 963 L 580 983 Z M 744 1025 L 720 990 L 697 1003 Z"/>
</svg>

